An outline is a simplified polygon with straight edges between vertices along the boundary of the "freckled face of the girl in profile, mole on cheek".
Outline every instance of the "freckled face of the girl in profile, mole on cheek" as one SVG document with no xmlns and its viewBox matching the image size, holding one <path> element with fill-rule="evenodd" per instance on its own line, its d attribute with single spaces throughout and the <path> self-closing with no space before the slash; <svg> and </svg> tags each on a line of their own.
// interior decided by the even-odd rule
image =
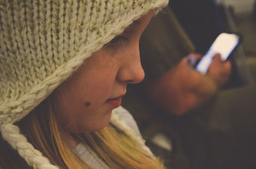
<svg viewBox="0 0 256 169">
<path fill-rule="evenodd" d="M 152 15 L 149 12 L 136 20 L 60 85 L 54 93 L 54 111 L 61 129 L 83 133 L 98 131 L 108 124 L 112 110 L 122 102 L 127 84 L 144 78 L 139 40 Z"/>
</svg>

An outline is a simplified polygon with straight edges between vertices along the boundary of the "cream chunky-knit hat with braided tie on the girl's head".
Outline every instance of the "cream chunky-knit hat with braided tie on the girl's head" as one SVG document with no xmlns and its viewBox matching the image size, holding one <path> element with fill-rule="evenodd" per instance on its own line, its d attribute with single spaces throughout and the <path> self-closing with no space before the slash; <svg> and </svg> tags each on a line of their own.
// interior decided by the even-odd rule
<svg viewBox="0 0 256 169">
<path fill-rule="evenodd" d="M 12 124 L 31 112 L 125 27 L 167 3 L 0 0 L 0 131 L 29 165 L 56 168 Z"/>
</svg>

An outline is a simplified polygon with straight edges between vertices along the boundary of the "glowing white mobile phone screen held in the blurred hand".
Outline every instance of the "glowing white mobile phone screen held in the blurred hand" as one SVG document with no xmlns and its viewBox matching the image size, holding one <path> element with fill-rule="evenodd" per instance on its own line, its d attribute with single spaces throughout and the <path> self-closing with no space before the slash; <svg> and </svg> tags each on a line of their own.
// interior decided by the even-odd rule
<svg viewBox="0 0 256 169">
<path fill-rule="evenodd" d="M 221 33 L 212 43 L 211 47 L 198 62 L 198 64 L 196 64 L 195 70 L 203 74 L 207 73 L 207 70 L 212 62 L 212 57 L 214 57 L 216 54 L 220 54 L 221 60 L 226 61 L 228 56 L 241 41 L 240 39 L 239 34 L 236 33 Z"/>
</svg>

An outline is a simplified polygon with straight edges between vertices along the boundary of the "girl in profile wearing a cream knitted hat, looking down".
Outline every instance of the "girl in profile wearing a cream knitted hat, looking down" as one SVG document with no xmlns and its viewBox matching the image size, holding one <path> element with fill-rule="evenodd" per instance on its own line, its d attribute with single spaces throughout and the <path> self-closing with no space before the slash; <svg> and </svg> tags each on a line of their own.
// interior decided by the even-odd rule
<svg viewBox="0 0 256 169">
<path fill-rule="evenodd" d="M 0 168 L 164 168 L 120 104 L 167 3 L 0 1 Z"/>
</svg>

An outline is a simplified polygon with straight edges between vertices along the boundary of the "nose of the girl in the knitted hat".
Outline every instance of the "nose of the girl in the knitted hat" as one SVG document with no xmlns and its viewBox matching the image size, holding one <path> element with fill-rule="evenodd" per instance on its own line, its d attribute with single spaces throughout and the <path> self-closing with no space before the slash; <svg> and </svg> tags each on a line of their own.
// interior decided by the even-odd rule
<svg viewBox="0 0 256 169">
<path fill-rule="evenodd" d="M 139 46 L 126 52 L 122 60 L 124 63 L 118 70 L 117 80 L 127 84 L 138 84 L 145 77 L 145 72 L 141 66 Z"/>
</svg>

